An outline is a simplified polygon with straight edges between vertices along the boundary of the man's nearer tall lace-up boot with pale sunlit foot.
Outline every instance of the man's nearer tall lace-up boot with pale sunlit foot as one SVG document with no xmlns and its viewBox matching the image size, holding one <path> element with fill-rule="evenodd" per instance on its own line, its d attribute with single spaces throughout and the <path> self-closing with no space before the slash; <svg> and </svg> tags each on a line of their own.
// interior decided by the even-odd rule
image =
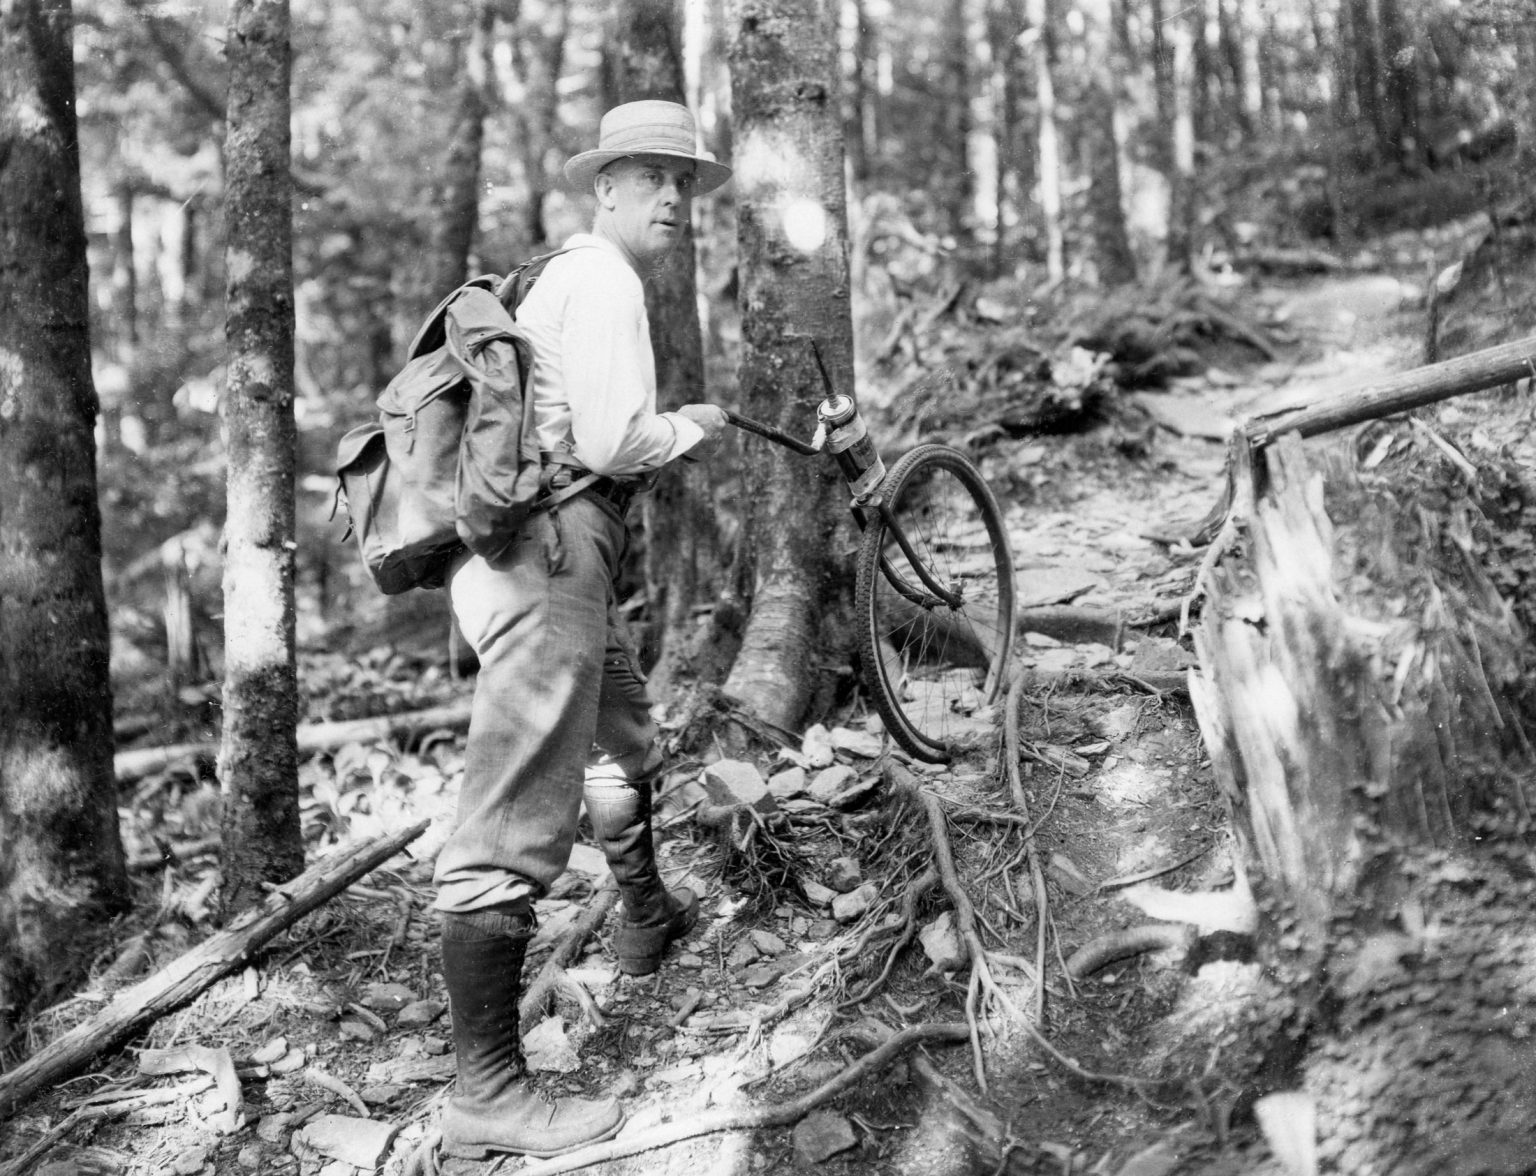
<svg viewBox="0 0 1536 1176">
<path fill-rule="evenodd" d="M 527 1076 L 518 1001 L 531 935 L 527 903 L 442 917 L 442 976 L 459 1072 L 442 1116 L 442 1150 L 450 1156 L 558 1156 L 624 1125 L 616 1099 L 548 1099 Z"/>
</svg>

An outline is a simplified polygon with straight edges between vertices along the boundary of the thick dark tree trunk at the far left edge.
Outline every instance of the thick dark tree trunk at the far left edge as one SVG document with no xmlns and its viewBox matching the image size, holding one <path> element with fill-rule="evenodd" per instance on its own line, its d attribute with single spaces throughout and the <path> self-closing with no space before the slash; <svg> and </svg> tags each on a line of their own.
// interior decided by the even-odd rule
<svg viewBox="0 0 1536 1176">
<path fill-rule="evenodd" d="M 0 9 L 0 1029 L 129 901 L 71 40 L 68 0 Z"/>
</svg>

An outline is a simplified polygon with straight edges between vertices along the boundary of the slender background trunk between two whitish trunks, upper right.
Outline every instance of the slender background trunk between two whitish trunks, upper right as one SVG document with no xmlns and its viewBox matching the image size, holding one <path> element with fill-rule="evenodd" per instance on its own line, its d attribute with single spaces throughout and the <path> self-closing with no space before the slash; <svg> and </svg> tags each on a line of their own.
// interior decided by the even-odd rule
<svg viewBox="0 0 1536 1176">
<path fill-rule="evenodd" d="M 1094 259 L 1103 286 L 1129 286 L 1137 279 L 1137 259 L 1126 232 L 1124 193 L 1120 184 L 1120 143 L 1115 135 L 1118 58 L 1111 35 L 1109 0 L 1080 3 L 1083 51 L 1087 63 L 1083 86 L 1083 135 L 1087 143 L 1087 204 L 1094 221 Z"/>
</svg>

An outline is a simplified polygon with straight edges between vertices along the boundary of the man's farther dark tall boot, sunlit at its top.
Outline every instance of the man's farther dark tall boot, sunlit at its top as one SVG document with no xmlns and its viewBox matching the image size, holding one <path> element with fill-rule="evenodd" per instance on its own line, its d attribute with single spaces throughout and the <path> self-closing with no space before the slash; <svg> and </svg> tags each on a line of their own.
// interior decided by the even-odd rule
<svg viewBox="0 0 1536 1176">
<path fill-rule="evenodd" d="M 668 890 L 656 870 L 653 783 L 654 775 L 625 780 L 590 769 L 582 791 L 593 832 L 624 903 L 613 953 L 619 958 L 619 970 L 631 976 L 648 976 L 660 967 L 667 947 L 699 921 L 699 897 L 687 886 Z"/>
</svg>

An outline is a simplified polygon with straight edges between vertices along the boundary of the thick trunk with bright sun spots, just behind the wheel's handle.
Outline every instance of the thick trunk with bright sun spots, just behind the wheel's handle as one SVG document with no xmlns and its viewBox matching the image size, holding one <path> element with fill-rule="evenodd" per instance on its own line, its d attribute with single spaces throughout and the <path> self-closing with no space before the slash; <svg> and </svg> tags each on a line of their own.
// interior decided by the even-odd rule
<svg viewBox="0 0 1536 1176">
<path fill-rule="evenodd" d="M 823 396 L 811 341 L 852 391 L 837 38 L 825 0 L 739 0 L 731 45 L 740 249 L 742 407 L 808 431 Z M 845 490 L 829 462 L 748 448 L 743 567 L 751 617 L 725 691 L 794 728 L 836 660 L 828 616 Z"/>
</svg>

